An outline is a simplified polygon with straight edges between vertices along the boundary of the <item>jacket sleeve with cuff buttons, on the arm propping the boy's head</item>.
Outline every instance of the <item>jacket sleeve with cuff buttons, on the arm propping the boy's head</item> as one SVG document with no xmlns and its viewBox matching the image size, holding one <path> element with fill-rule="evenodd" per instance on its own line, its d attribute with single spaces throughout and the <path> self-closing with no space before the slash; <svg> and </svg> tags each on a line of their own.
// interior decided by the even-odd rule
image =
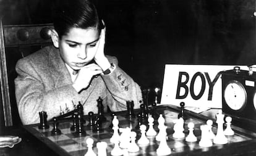
<svg viewBox="0 0 256 156">
<path fill-rule="evenodd" d="M 102 75 L 109 91 L 109 109 L 114 112 L 127 110 L 126 101 L 134 101 L 134 109 L 139 109 L 143 103 L 140 86 L 118 66 L 116 57 L 108 56 L 108 60 L 116 67 L 112 73 Z"/>
</svg>

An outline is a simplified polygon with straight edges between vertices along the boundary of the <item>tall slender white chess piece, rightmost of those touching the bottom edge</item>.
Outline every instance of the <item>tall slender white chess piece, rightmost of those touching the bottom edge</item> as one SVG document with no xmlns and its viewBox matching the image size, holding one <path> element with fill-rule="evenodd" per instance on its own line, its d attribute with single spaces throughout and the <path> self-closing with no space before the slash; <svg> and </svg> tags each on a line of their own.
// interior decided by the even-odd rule
<svg viewBox="0 0 256 156">
<path fill-rule="evenodd" d="M 158 155 L 169 155 L 171 154 L 171 149 L 168 147 L 168 144 L 166 142 L 166 128 L 167 126 L 162 127 L 163 135 L 160 139 L 160 144 L 158 146 L 158 149 L 156 149 L 156 154 Z"/>
</svg>

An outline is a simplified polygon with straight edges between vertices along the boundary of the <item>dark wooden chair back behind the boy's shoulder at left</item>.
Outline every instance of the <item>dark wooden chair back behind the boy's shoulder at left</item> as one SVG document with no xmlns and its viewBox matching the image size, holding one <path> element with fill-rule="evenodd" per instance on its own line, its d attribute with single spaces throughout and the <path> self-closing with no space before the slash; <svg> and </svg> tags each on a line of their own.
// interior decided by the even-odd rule
<svg viewBox="0 0 256 156">
<path fill-rule="evenodd" d="M 21 124 L 15 100 L 15 64 L 22 57 L 51 44 L 51 29 L 53 24 L 2 25 L 0 21 L 0 127 Z"/>
</svg>

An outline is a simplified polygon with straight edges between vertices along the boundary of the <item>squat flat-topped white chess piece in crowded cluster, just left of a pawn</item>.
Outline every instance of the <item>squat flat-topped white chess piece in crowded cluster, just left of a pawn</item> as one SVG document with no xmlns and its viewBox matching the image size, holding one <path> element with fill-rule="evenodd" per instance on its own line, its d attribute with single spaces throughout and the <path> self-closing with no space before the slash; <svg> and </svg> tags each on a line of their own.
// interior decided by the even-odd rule
<svg viewBox="0 0 256 156">
<path fill-rule="evenodd" d="M 127 149 L 130 144 L 130 128 L 119 128 L 119 131 L 122 133 L 120 135 L 120 144 L 119 146 L 122 149 Z"/>
</svg>

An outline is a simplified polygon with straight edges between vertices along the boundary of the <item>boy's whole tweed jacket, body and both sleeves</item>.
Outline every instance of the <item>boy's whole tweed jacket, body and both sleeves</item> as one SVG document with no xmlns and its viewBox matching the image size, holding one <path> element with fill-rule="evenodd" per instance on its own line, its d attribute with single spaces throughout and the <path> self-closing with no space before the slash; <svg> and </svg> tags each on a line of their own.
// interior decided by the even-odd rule
<svg viewBox="0 0 256 156">
<path fill-rule="evenodd" d="M 81 102 L 83 112 L 98 113 L 97 99 L 103 99 L 113 112 L 126 110 L 126 101 L 134 101 L 134 109 L 142 102 L 142 92 L 137 83 L 118 67 L 116 57 L 108 56 L 110 63 L 116 65 L 109 75 L 92 78 L 91 84 L 81 92 L 72 86 L 70 73 L 59 50 L 54 46 L 44 47 L 23 59 L 15 67 L 15 96 L 20 119 L 24 125 L 39 123 L 39 112 L 45 111 L 48 120 L 60 112 L 74 110 Z"/>
</svg>

